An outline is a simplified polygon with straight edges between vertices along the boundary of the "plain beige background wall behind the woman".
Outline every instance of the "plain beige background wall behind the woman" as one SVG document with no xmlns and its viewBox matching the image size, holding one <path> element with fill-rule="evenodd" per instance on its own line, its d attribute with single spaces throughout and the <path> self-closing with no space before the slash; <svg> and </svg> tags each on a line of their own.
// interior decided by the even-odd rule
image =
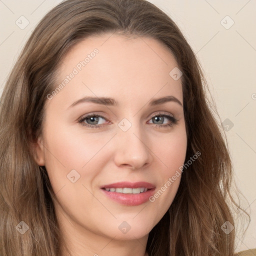
<svg viewBox="0 0 256 256">
<path fill-rule="evenodd" d="M 59 2 L 60 0 L 0 0 L 0 93 L 32 29 Z M 236 235 L 236 251 L 255 248 L 256 1 L 150 2 L 160 7 L 178 24 L 204 69 L 221 122 L 225 120 L 225 127 L 228 129 L 226 135 L 234 178 L 247 199 L 241 198 L 241 204 L 251 214 L 251 223 L 245 235 Z M 29 24 L 21 29 L 19 26 L 26 25 L 25 22 Z M 233 123 L 232 127 L 230 123 Z"/>
</svg>

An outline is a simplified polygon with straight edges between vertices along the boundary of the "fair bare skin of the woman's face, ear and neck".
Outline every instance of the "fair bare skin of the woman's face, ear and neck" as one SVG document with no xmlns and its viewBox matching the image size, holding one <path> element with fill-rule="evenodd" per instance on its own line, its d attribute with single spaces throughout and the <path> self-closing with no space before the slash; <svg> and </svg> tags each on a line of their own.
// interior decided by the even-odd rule
<svg viewBox="0 0 256 256">
<path fill-rule="evenodd" d="M 45 165 L 56 194 L 63 237 L 76 256 L 147 255 L 148 233 L 171 205 L 181 175 L 154 202 L 136 206 L 109 199 L 100 186 L 147 181 L 158 191 L 185 159 L 183 107 L 174 101 L 148 104 L 172 95 L 183 105 L 181 79 L 169 75 L 177 66 L 172 53 L 153 38 L 111 34 L 88 37 L 64 56 L 58 83 L 94 48 L 99 50 L 47 99 L 42 134 L 35 145 L 36 161 Z M 69 107 L 84 96 L 111 97 L 118 105 L 83 102 Z M 171 121 L 153 120 L 150 115 L 159 112 L 174 116 L 177 123 L 160 126 Z M 89 128 L 78 121 L 91 113 L 103 118 L 83 123 L 101 127 Z M 117 125 L 123 118 L 131 123 L 125 132 Z M 72 169 L 80 175 L 74 183 L 67 178 Z M 125 234 L 118 228 L 123 221 L 131 227 Z"/>
</svg>

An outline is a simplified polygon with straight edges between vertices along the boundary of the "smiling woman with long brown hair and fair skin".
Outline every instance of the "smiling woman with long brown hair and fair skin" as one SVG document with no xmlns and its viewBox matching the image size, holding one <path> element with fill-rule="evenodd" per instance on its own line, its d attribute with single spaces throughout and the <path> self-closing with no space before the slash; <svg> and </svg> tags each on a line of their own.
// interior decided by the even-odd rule
<svg viewBox="0 0 256 256">
<path fill-rule="evenodd" d="M 233 255 L 240 207 L 203 85 L 153 4 L 53 8 L 1 96 L 0 254 Z"/>
</svg>

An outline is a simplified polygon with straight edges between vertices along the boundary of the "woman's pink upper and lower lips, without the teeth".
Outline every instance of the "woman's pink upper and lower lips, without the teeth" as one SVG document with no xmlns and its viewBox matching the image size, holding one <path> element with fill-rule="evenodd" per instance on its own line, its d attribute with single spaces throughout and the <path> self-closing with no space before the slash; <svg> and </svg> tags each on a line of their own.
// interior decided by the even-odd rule
<svg viewBox="0 0 256 256">
<path fill-rule="evenodd" d="M 148 190 L 138 194 L 125 194 L 125 193 L 118 193 L 118 192 L 111 192 L 106 191 L 104 188 L 138 188 L 138 187 L 145 187 Z M 148 201 L 149 197 L 153 195 L 155 186 L 148 182 L 117 182 L 112 184 L 103 185 L 100 187 L 100 190 L 104 193 L 105 196 L 110 198 L 111 200 L 129 206 L 140 205 Z"/>
</svg>

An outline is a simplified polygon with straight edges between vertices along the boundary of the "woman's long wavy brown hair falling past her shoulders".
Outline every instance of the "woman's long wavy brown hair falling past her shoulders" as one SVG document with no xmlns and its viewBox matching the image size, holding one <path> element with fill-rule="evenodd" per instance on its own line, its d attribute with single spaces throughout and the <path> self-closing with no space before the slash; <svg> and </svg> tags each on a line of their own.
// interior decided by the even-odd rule
<svg viewBox="0 0 256 256">
<path fill-rule="evenodd" d="M 61 256 L 61 232 L 44 166 L 38 166 L 30 143 L 41 132 L 44 103 L 55 87 L 65 53 L 92 34 L 118 32 L 161 41 L 182 71 L 187 131 L 185 162 L 176 196 L 149 233 L 151 256 L 233 255 L 234 225 L 227 201 L 232 164 L 215 106 L 206 97 L 200 65 L 176 24 L 145 0 L 66 0 L 49 11 L 34 29 L 14 65 L 0 101 L 0 255 Z M 20 234 L 18 228 L 29 229 Z M 23 229 L 22 229 L 23 230 Z"/>
</svg>

